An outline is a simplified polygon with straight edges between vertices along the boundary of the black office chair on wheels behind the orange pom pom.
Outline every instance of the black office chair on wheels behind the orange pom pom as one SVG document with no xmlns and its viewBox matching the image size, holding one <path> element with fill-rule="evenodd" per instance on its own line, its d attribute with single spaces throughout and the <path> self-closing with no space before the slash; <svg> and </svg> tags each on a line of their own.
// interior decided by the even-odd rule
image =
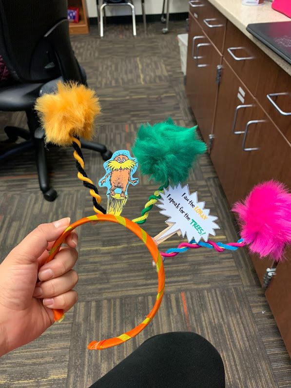
<svg viewBox="0 0 291 388">
<path fill-rule="evenodd" d="M 53 93 L 58 79 L 86 84 L 70 42 L 67 8 L 67 0 L 0 0 L 0 54 L 14 78 L 11 85 L 0 89 L 0 111 L 25 111 L 29 128 L 4 128 L 9 141 L 19 136 L 25 141 L 2 153 L 0 163 L 34 147 L 39 187 L 48 201 L 55 200 L 57 192 L 49 185 L 44 132 L 34 110 L 35 100 L 43 93 Z M 81 144 L 99 152 L 103 160 L 112 156 L 102 144 L 85 140 Z"/>
</svg>

